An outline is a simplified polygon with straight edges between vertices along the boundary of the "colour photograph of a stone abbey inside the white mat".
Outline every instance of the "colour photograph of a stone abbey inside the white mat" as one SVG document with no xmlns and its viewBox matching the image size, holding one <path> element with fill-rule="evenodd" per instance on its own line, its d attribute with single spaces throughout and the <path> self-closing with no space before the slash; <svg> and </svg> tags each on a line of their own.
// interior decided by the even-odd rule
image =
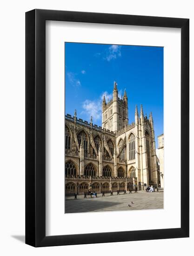
<svg viewBox="0 0 194 256">
<path fill-rule="evenodd" d="M 163 47 L 65 42 L 65 214 L 163 209 Z"/>
</svg>

